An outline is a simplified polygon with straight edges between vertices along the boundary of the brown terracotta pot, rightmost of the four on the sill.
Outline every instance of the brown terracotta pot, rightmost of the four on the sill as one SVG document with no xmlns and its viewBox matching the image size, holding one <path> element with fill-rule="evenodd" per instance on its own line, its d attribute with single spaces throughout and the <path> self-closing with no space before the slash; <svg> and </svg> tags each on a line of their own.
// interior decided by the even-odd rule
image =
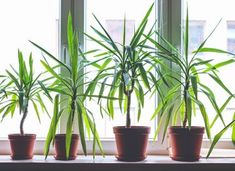
<svg viewBox="0 0 235 171">
<path fill-rule="evenodd" d="M 169 128 L 170 157 L 177 161 L 198 161 L 200 159 L 204 127 L 192 126 Z"/>
</svg>

